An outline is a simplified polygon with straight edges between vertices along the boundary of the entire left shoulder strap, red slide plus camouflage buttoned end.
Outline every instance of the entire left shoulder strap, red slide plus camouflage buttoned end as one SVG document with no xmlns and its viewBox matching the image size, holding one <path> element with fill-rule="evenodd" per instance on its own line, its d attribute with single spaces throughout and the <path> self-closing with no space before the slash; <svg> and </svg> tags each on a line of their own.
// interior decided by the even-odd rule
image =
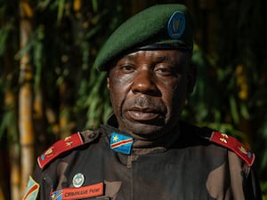
<svg viewBox="0 0 267 200">
<path fill-rule="evenodd" d="M 85 141 L 83 140 L 82 135 L 88 136 L 85 138 Z M 46 149 L 41 156 L 37 158 L 37 163 L 39 164 L 41 169 L 44 169 L 44 166 L 53 161 L 53 159 L 55 159 L 57 156 L 73 148 L 82 146 L 85 143 L 91 142 L 95 138 L 97 138 L 97 136 L 98 134 L 96 132 L 85 131 L 77 132 L 65 139 L 58 140 L 50 148 Z"/>
</svg>

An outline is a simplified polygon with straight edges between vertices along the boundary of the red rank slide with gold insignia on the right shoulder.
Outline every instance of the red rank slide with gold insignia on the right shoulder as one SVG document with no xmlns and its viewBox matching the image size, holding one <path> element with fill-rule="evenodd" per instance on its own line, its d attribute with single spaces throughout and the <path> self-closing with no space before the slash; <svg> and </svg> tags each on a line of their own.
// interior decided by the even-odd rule
<svg viewBox="0 0 267 200">
<path fill-rule="evenodd" d="M 224 134 L 223 132 L 213 132 L 210 138 L 216 144 L 222 145 L 225 148 L 230 148 L 239 157 L 244 160 L 248 166 L 251 166 L 255 161 L 255 154 L 252 153 L 244 144 L 234 137 Z"/>
</svg>

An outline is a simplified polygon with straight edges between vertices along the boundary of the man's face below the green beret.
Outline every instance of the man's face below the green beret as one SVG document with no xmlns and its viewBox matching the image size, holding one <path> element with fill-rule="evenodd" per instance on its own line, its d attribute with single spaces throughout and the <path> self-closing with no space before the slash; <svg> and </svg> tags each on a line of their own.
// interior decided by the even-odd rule
<svg viewBox="0 0 267 200">
<path fill-rule="evenodd" d="M 118 129 L 158 138 L 178 123 L 193 87 L 190 56 L 175 50 L 138 51 L 109 69 L 108 88 Z"/>
</svg>

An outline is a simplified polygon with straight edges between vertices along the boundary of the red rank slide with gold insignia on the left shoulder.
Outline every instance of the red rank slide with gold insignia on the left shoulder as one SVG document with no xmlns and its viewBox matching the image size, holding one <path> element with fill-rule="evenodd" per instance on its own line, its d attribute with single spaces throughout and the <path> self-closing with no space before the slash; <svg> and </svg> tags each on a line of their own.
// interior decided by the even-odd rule
<svg viewBox="0 0 267 200">
<path fill-rule="evenodd" d="M 79 132 L 70 135 L 69 137 L 59 140 L 44 153 L 37 158 L 37 162 L 41 169 L 44 169 L 46 164 L 49 164 L 55 157 L 69 151 L 72 148 L 77 148 L 84 144 L 84 141 Z"/>
</svg>

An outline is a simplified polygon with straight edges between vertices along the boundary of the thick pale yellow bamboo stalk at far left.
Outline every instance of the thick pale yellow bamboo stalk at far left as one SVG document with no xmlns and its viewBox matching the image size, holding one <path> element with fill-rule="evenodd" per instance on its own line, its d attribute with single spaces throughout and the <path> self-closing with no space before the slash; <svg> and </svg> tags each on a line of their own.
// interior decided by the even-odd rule
<svg viewBox="0 0 267 200">
<path fill-rule="evenodd" d="M 32 9 L 28 1 L 20 0 L 20 48 L 28 44 L 29 37 L 32 35 L 32 16 Z M 32 79 L 33 67 L 30 65 L 29 53 L 26 52 L 20 59 L 19 131 L 21 147 L 21 191 L 24 191 L 27 186 L 28 176 L 34 168 L 33 161 L 35 158 Z"/>
</svg>

